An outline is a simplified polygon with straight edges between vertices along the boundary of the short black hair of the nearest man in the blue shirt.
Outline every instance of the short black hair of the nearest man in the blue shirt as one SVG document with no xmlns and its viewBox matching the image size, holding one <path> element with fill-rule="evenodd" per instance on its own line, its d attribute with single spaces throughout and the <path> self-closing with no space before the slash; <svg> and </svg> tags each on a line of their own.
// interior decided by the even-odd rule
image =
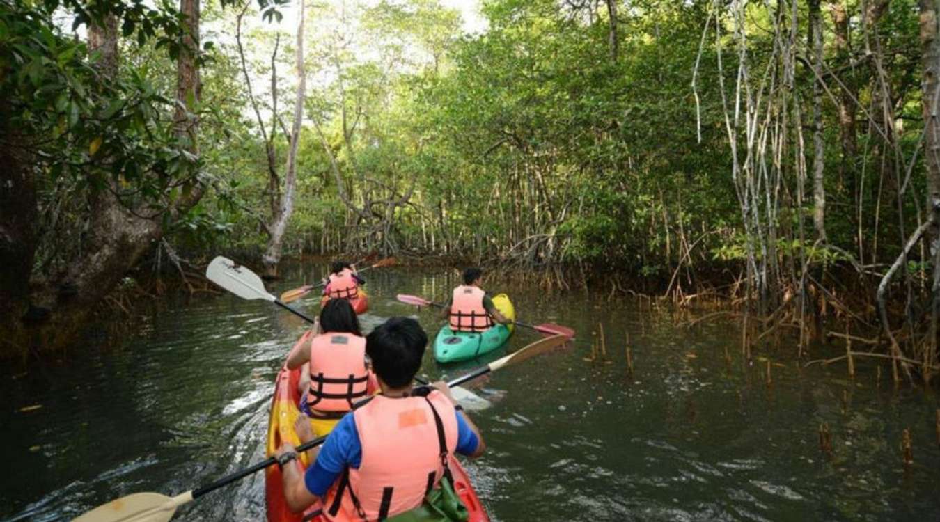
<svg viewBox="0 0 940 522">
<path fill-rule="evenodd" d="M 385 384 L 403 388 L 415 378 L 424 359 L 428 335 L 411 317 L 392 317 L 366 338 L 372 369 Z"/>
</svg>

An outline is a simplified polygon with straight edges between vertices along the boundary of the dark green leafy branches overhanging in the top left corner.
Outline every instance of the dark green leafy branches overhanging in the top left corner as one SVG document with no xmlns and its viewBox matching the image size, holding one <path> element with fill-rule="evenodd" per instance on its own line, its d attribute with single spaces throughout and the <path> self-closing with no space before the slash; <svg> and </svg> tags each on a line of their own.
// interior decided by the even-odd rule
<svg viewBox="0 0 940 522">
<path fill-rule="evenodd" d="M 103 190 L 118 181 L 129 204 L 165 207 L 191 189 L 196 158 L 168 117 L 173 101 L 147 69 L 102 76 L 99 54 L 60 35 L 47 12 L 0 10 L 0 98 L 8 129 L 26 136 L 47 186 Z"/>
</svg>

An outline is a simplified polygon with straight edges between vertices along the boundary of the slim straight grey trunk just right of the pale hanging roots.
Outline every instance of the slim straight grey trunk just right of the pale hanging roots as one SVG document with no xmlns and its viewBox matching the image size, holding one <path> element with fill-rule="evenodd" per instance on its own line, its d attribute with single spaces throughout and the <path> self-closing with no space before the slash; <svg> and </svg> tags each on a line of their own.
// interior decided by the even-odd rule
<svg viewBox="0 0 940 522">
<path fill-rule="evenodd" d="M 809 46 L 812 49 L 813 67 L 822 75 L 823 70 L 823 21 L 820 16 L 820 0 L 809 0 Z M 815 76 L 815 75 L 814 75 Z M 825 237 L 825 147 L 823 146 L 823 88 L 822 80 L 813 82 L 813 226 L 816 237 L 823 243 Z"/>
</svg>

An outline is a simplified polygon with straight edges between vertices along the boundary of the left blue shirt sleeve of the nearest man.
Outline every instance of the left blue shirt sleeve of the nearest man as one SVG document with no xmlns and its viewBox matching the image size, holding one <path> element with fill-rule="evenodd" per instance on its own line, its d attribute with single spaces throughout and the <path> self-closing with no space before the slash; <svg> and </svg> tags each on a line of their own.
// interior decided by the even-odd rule
<svg viewBox="0 0 940 522">
<path fill-rule="evenodd" d="M 359 468 L 362 464 L 362 444 L 359 442 L 359 433 L 355 429 L 355 418 L 352 413 L 337 422 L 330 435 L 323 442 L 320 454 L 313 466 L 306 468 L 304 484 L 306 489 L 318 497 L 326 494 L 326 490 L 337 481 L 347 465 Z"/>
</svg>

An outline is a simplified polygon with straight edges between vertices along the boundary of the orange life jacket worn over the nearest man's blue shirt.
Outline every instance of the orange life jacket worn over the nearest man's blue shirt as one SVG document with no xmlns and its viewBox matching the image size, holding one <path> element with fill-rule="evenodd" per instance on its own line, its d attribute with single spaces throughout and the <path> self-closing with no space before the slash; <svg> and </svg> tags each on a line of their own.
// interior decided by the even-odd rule
<svg viewBox="0 0 940 522">
<path fill-rule="evenodd" d="M 384 520 L 415 509 L 446 472 L 457 448 L 457 417 L 443 393 L 376 395 L 352 415 L 362 445 L 358 469 L 347 467 L 323 499 L 329 520 Z"/>
</svg>

